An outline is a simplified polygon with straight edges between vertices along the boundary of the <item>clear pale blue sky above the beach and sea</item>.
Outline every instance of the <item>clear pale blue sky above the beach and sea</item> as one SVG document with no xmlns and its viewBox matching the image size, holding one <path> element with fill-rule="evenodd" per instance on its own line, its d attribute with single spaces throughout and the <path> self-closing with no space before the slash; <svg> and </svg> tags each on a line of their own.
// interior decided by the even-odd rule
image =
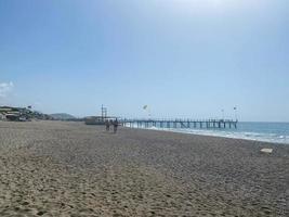
<svg viewBox="0 0 289 217">
<path fill-rule="evenodd" d="M 0 105 L 82 117 L 102 104 L 289 122 L 289 1 L 0 0 Z"/>
</svg>

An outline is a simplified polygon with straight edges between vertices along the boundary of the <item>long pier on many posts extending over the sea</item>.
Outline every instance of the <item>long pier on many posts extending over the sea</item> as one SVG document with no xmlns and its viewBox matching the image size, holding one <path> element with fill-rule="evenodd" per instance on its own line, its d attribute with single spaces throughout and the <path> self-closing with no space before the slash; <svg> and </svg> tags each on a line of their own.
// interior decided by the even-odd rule
<svg viewBox="0 0 289 217">
<path fill-rule="evenodd" d="M 238 120 L 233 119 L 120 119 L 122 126 L 134 128 L 237 128 Z"/>
</svg>

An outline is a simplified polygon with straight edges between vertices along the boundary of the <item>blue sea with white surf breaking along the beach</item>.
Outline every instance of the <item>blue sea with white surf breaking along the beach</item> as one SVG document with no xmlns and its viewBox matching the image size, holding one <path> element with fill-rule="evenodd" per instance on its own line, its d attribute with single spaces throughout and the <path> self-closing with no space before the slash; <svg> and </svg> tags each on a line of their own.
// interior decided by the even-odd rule
<svg viewBox="0 0 289 217">
<path fill-rule="evenodd" d="M 149 129 L 289 144 L 289 123 L 239 122 L 236 129 L 160 128 L 159 126 L 150 126 Z"/>
</svg>

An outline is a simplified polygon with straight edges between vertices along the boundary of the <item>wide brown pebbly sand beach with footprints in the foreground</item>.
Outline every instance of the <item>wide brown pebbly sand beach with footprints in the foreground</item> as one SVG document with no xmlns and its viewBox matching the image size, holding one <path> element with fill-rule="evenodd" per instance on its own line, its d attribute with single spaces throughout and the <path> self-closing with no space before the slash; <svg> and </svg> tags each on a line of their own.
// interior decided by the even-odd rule
<svg viewBox="0 0 289 217">
<path fill-rule="evenodd" d="M 0 216 L 289 216 L 285 144 L 0 122 Z"/>
</svg>

